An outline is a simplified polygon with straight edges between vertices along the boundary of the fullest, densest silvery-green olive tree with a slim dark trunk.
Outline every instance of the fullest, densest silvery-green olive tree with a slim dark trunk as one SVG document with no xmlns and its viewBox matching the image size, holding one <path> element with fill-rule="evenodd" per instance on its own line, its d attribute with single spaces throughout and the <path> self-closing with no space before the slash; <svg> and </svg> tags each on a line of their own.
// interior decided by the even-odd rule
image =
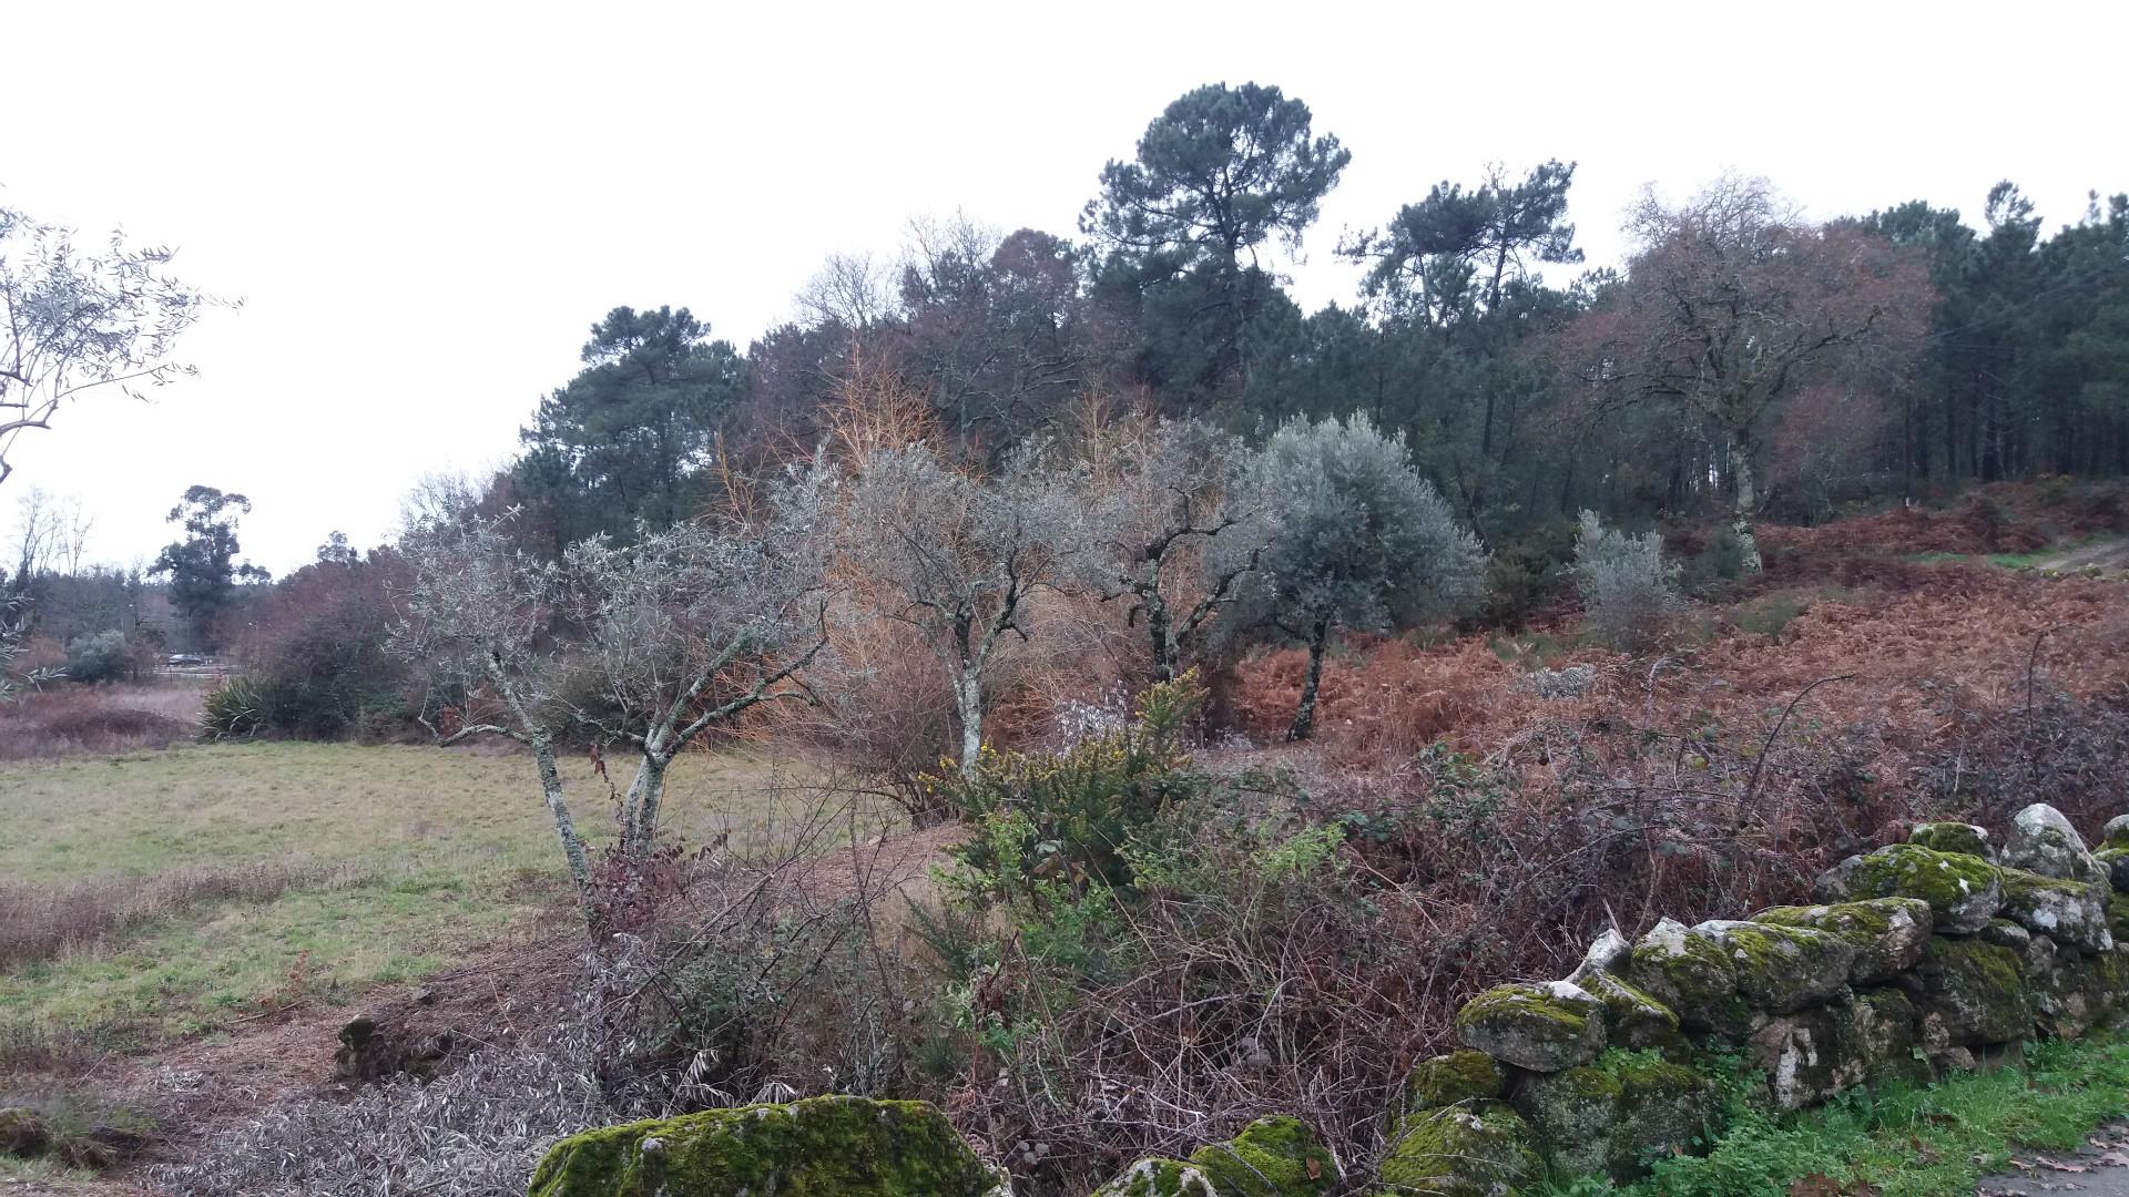
<svg viewBox="0 0 2129 1197">
<path fill-rule="evenodd" d="M 1384 434 L 1360 413 L 1282 424 L 1256 460 L 1256 486 L 1280 498 L 1280 522 L 1250 601 L 1258 620 L 1309 650 L 1286 733 L 1307 739 L 1331 633 L 1456 609 L 1478 594 L 1484 554 L 1412 466 L 1403 434 Z"/>
</svg>

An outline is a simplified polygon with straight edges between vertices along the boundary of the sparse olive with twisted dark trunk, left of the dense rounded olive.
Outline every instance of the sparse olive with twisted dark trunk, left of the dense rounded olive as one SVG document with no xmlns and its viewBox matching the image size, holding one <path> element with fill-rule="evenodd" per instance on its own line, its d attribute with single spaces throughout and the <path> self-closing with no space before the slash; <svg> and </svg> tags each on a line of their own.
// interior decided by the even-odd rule
<svg viewBox="0 0 2129 1197">
<path fill-rule="evenodd" d="M 1196 420 L 1126 420 L 1105 428 L 1086 483 L 1086 573 L 1145 620 L 1154 682 L 1237 603 L 1273 530 L 1239 437 Z"/>
</svg>

